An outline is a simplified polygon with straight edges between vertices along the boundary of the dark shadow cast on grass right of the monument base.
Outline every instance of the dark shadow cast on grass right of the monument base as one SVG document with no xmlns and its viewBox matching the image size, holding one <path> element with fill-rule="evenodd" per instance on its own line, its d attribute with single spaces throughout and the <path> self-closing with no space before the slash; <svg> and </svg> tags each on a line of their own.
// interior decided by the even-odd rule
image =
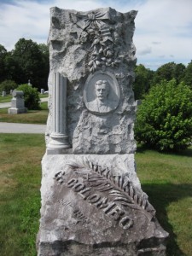
<svg viewBox="0 0 192 256">
<path fill-rule="evenodd" d="M 160 225 L 170 234 L 167 243 L 167 256 L 186 256 L 177 245 L 177 235 L 173 231 L 172 224 L 167 216 L 167 207 L 185 197 L 192 197 L 192 185 L 190 184 L 143 184 L 143 191 L 147 193 L 150 203 L 156 210 L 156 217 Z"/>
</svg>

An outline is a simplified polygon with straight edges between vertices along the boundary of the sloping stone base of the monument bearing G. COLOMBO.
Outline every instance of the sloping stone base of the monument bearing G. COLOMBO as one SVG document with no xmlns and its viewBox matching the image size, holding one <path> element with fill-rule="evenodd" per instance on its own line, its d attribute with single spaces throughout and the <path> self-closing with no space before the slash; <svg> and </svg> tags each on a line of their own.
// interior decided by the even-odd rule
<svg viewBox="0 0 192 256">
<path fill-rule="evenodd" d="M 45 154 L 38 256 L 166 255 L 134 154 Z"/>
</svg>

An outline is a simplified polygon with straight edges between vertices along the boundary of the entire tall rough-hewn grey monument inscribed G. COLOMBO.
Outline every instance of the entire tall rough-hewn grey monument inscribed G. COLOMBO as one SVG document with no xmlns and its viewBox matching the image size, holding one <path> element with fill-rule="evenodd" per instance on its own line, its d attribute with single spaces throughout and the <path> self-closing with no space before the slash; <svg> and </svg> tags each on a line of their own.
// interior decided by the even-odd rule
<svg viewBox="0 0 192 256">
<path fill-rule="evenodd" d="M 38 256 L 166 255 L 134 160 L 137 12 L 50 12 Z"/>
</svg>

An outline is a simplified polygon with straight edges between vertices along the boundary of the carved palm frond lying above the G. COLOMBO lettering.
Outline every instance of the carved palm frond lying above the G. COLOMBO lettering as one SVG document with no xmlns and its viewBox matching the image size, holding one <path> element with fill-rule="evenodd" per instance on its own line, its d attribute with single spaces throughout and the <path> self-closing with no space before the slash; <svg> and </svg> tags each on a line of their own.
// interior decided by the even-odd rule
<svg viewBox="0 0 192 256">
<path fill-rule="evenodd" d="M 102 168 L 89 161 L 84 162 L 84 165 L 69 163 L 69 166 L 77 175 L 87 179 L 93 189 L 101 192 L 108 191 L 113 201 L 118 201 L 124 207 L 144 211 L 143 213 L 150 219 L 154 217 L 155 210 L 148 202 L 147 195 L 137 194 L 137 189 L 134 189 L 128 177 L 124 175 L 113 177 L 108 168 Z"/>
</svg>

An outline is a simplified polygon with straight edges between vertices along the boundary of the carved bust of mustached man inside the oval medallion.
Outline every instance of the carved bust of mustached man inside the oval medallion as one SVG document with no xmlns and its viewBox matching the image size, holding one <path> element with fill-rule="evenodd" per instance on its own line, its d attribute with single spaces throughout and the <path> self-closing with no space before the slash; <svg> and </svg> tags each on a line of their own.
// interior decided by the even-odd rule
<svg viewBox="0 0 192 256">
<path fill-rule="evenodd" d="M 98 80 L 95 84 L 96 99 L 87 102 L 86 107 L 95 113 L 108 113 L 116 108 L 117 103 L 109 100 L 110 84 L 107 80 Z"/>
</svg>

